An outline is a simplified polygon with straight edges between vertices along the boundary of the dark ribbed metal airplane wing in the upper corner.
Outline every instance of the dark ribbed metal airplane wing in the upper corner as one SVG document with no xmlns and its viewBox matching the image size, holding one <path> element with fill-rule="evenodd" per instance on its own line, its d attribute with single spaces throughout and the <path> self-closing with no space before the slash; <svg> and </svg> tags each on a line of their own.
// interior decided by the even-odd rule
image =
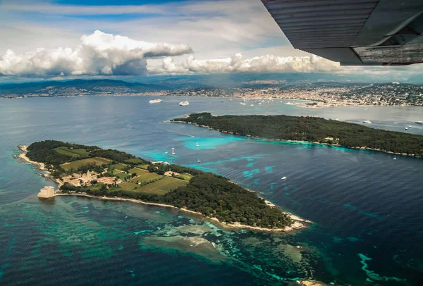
<svg viewBox="0 0 423 286">
<path fill-rule="evenodd" d="M 423 63 L 422 0 L 261 0 L 295 49 L 343 66 Z"/>
</svg>

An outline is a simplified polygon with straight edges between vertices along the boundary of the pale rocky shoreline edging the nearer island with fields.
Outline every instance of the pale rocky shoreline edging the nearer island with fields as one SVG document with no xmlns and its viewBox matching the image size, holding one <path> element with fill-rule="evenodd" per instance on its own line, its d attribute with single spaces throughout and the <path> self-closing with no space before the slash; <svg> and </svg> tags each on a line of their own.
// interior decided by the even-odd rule
<svg viewBox="0 0 423 286">
<path fill-rule="evenodd" d="M 31 161 L 30 158 L 28 158 L 25 155 L 26 152 L 27 152 L 27 147 L 25 145 L 18 145 L 18 148 L 20 149 L 20 151 L 24 152 L 24 153 L 18 154 L 18 156 L 17 156 L 18 158 L 21 158 L 26 163 L 30 163 L 32 165 L 37 166 L 37 168 L 39 168 L 39 170 L 43 170 L 44 173 L 46 173 L 46 174 L 44 174 L 44 175 L 40 174 L 40 175 L 42 175 L 44 178 L 49 178 L 49 179 L 53 180 L 54 182 L 56 182 L 56 184 L 58 184 L 58 187 L 61 187 L 61 185 L 63 185 L 63 182 L 61 180 L 54 179 L 49 175 L 49 171 L 45 168 L 44 163 Z M 238 185 L 236 182 L 233 182 L 233 183 Z M 247 190 L 250 191 L 250 192 L 254 192 L 251 189 L 247 189 Z M 312 223 L 312 221 L 310 221 L 310 220 L 302 219 L 299 216 L 295 216 L 292 213 L 284 211 L 283 213 L 286 213 L 286 215 L 288 215 L 291 218 L 291 220 L 293 220 L 292 225 L 286 226 L 285 228 L 260 228 L 260 227 L 257 227 L 257 226 L 243 225 L 243 224 L 238 223 L 238 222 L 237 223 L 226 223 L 226 222 L 220 221 L 217 218 L 205 216 L 204 214 L 202 214 L 200 212 L 190 211 L 189 209 L 185 209 L 185 208 L 178 208 L 178 207 L 172 206 L 170 204 L 159 204 L 159 203 L 141 201 L 141 200 L 138 200 L 138 199 L 125 199 L 125 198 L 119 198 L 119 197 L 98 197 L 98 196 L 93 196 L 91 194 L 84 194 L 84 193 L 64 194 L 64 193 L 56 192 L 54 194 L 54 196 L 52 196 L 52 197 L 61 197 L 61 196 L 90 197 L 90 198 L 93 198 L 93 199 L 104 199 L 104 200 L 111 200 L 111 201 L 129 201 L 129 202 L 133 202 L 133 203 L 137 203 L 137 204 L 145 204 L 145 205 L 150 205 L 150 206 L 161 206 L 161 207 L 165 207 L 165 208 L 177 209 L 179 211 L 185 211 L 185 212 L 188 212 L 188 213 L 192 213 L 192 214 L 195 214 L 197 216 L 202 216 L 202 218 L 208 218 L 209 220 L 212 220 L 216 223 L 219 223 L 219 225 L 223 226 L 223 228 L 247 229 L 247 230 L 255 230 L 255 231 L 259 231 L 259 232 L 290 232 L 290 231 L 293 231 L 293 230 L 301 230 L 301 229 L 309 228 L 308 224 Z M 257 197 L 259 197 L 259 196 L 257 196 Z M 262 197 L 259 197 L 259 198 L 263 199 Z M 269 206 L 276 207 L 270 201 L 266 201 L 266 204 L 268 204 Z"/>
</svg>

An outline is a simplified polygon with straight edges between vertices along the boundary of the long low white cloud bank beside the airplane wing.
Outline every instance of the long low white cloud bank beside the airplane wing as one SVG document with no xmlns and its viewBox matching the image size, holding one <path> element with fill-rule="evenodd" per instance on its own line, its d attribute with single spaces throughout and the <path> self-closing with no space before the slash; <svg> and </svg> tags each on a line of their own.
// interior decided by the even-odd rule
<svg viewBox="0 0 423 286">
<path fill-rule="evenodd" d="M 243 58 L 235 54 L 231 58 L 196 60 L 193 55 L 186 61 L 175 63 L 173 58 L 164 58 L 162 73 L 328 73 L 340 70 L 339 63 L 319 56 L 255 56 Z"/>
</svg>

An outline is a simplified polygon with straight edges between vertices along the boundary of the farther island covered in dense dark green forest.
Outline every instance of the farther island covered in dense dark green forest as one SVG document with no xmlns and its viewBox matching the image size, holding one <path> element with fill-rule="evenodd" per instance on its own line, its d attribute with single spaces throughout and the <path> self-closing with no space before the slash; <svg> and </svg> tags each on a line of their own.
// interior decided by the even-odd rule
<svg viewBox="0 0 423 286">
<path fill-rule="evenodd" d="M 310 116 L 212 116 L 192 113 L 172 122 L 190 123 L 247 137 L 319 142 L 352 149 L 372 149 L 422 157 L 423 136 L 368 128 Z"/>
</svg>

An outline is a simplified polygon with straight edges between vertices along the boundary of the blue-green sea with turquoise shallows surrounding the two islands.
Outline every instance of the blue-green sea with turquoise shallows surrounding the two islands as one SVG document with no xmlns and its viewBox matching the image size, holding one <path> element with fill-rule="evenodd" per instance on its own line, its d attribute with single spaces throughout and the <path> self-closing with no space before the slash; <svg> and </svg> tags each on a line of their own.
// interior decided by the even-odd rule
<svg viewBox="0 0 423 286">
<path fill-rule="evenodd" d="M 164 122 L 204 111 L 306 115 L 363 125 L 370 120 L 372 128 L 423 135 L 423 125 L 415 124 L 423 120 L 422 107 L 150 99 L 0 101 L 0 285 L 423 285 L 423 159 Z M 178 106 L 185 100 L 189 106 Z M 38 199 L 40 188 L 55 183 L 13 155 L 18 144 L 44 139 L 224 175 L 313 223 L 292 233 L 230 230 L 157 206 Z"/>
</svg>

